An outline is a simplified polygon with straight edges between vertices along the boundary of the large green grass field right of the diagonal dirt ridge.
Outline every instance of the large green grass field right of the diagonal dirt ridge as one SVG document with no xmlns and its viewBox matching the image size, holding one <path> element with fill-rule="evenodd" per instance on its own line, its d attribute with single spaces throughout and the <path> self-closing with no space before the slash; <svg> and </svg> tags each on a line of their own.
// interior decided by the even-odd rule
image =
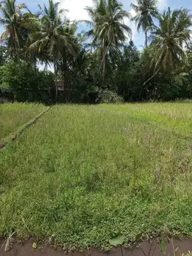
<svg viewBox="0 0 192 256">
<path fill-rule="evenodd" d="M 0 158 L 0 234 L 192 237 L 192 102 L 53 106 Z"/>
</svg>

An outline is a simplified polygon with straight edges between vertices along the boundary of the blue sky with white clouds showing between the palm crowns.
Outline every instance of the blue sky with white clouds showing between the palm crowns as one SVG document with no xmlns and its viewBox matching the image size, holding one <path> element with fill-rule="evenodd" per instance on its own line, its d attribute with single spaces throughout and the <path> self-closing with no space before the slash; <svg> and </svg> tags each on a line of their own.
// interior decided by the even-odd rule
<svg viewBox="0 0 192 256">
<path fill-rule="evenodd" d="M 57 0 L 55 0 L 57 1 Z M 27 4 L 28 8 L 32 12 L 36 12 L 38 10 L 37 5 L 43 5 L 47 4 L 48 0 L 24 0 L 25 4 Z M 68 9 L 67 16 L 71 20 L 85 20 L 88 19 L 88 15 L 84 10 L 85 6 L 91 6 L 92 0 L 60 0 L 60 8 Z M 124 4 L 124 8 L 127 11 L 131 11 L 130 4 L 131 2 L 135 3 L 136 0 L 121 0 L 121 2 Z M 18 3 L 23 3 L 22 0 L 18 0 Z M 180 7 L 187 7 L 192 10 L 192 0 L 159 0 L 159 10 L 163 11 L 168 6 L 171 8 L 180 8 Z M 131 11 L 131 14 L 133 15 L 133 10 Z M 137 47 L 142 47 L 144 44 L 144 36 L 141 32 L 138 34 L 136 31 L 135 25 L 133 23 L 128 22 L 128 20 L 125 21 L 128 23 L 128 25 L 133 30 L 133 41 L 135 42 Z M 86 27 L 83 25 L 80 25 L 78 30 L 85 30 Z M 0 32 L 3 31 L 3 28 L 0 28 Z"/>
</svg>

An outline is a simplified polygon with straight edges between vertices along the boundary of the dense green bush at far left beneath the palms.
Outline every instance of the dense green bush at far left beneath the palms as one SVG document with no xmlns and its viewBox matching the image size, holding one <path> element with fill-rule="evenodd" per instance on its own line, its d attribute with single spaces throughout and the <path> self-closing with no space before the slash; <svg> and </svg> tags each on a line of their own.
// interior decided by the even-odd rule
<svg viewBox="0 0 192 256">
<path fill-rule="evenodd" d="M 11 90 L 18 102 L 45 102 L 52 99 L 54 75 L 51 72 L 34 71 L 26 64 L 8 62 L 0 67 L 1 90 Z"/>
</svg>

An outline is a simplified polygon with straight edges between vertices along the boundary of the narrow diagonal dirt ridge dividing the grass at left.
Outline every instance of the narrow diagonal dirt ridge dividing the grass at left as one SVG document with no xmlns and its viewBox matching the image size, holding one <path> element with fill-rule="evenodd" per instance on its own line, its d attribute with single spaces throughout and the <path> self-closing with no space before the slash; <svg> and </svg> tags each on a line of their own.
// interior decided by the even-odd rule
<svg viewBox="0 0 192 256">
<path fill-rule="evenodd" d="M 47 111 L 49 111 L 49 109 L 51 108 L 51 106 L 49 106 L 48 109 L 42 111 L 41 114 L 39 114 L 38 116 L 35 116 L 35 118 L 32 118 L 28 123 L 25 123 L 23 126 L 20 126 L 20 128 L 18 128 L 17 132 L 13 135 L 9 135 L 7 138 L 5 138 L 4 142 L 0 142 L 0 150 L 3 149 L 4 147 L 6 147 L 8 142 L 13 142 L 14 140 L 16 140 L 18 138 L 18 136 L 23 133 L 26 129 L 30 128 L 30 126 L 32 126 L 34 123 L 37 122 L 38 119 L 40 119 L 40 117 L 42 117 Z"/>
</svg>

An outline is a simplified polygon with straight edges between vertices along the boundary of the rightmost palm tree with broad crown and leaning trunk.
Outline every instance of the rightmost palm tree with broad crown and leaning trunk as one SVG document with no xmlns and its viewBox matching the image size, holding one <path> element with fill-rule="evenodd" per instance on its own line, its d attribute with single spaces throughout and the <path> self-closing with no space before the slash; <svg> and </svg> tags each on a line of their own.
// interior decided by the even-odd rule
<svg viewBox="0 0 192 256">
<path fill-rule="evenodd" d="M 188 9 L 164 11 L 158 16 L 160 26 L 151 33 L 152 62 L 154 74 L 145 83 L 148 83 L 159 71 L 172 73 L 182 61 L 187 60 L 185 46 L 191 43 L 192 16 Z"/>
</svg>

